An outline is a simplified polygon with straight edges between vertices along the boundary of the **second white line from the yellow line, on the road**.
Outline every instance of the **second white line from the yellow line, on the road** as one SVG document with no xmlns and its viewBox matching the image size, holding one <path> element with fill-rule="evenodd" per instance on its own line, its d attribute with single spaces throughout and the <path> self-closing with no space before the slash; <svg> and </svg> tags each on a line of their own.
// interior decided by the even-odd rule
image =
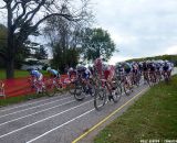
<svg viewBox="0 0 177 143">
<path fill-rule="evenodd" d="M 60 116 L 60 114 L 62 114 L 62 113 L 65 113 L 65 112 L 67 112 L 67 111 L 73 110 L 73 109 L 75 109 L 75 108 L 82 107 L 82 106 L 84 106 L 84 105 L 86 105 L 86 103 L 88 103 L 88 102 L 91 102 L 91 101 L 93 101 L 93 99 L 90 100 L 90 101 L 86 101 L 86 102 L 84 102 L 84 103 L 82 103 L 82 105 L 80 105 L 80 106 L 76 106 L 76 107 L 70 108 L 70 109 L 67 109 L 67 110 L 64 110 L 64 111 L 62 111 L 62 112 L 60 112 L 60 113 L 56 113 L 56 114 L 54 114 L 54 116 L 51 116 L 51 117 L 44 118 L 44 119 L 42 119 L 42 120 L 39 120 L 39 121 L 37 121 L 37 122 L 34 122 L 34 123 L 31 123 L 31 124 L 29 124 L 29 125 L 25 125 L 25 127 L 23 127 L 23 128 L 13 130 L 13 131 L 11 131 L 11 132 L 9 132 L 9 133 L 6 133 L 6 134 L 2 134 L 2 135 L 0 135 L 0 139 L 1 139 L 1 138 L 4 138 L 4 136 L 8 136 L 8 135 L 10 135 L 10 134 L 12 134 L 12 133 L 15 133 L 15 132 L 18 132 L 18 131 L 21 131 L 21 130 L 23 130 L 23 129 L 27 129 L 27 128 L 29 128 L 29 127 L 32 127 L 32 125 L 34 125 L 34 124 L 37 124 L 37 123 L 43 122 L 43 121 L 49 120 L 49 119 L 54 118 L 54 117 L 58 117 L 58 116 Z"/>
</svg>

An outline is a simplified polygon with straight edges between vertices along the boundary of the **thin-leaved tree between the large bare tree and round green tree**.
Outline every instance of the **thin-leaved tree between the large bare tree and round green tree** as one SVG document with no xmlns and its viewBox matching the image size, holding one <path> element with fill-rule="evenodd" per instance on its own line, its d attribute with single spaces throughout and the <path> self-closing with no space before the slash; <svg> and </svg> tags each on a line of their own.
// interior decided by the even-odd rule
<svg viewBox="0 0 177 143">
<path fill-rule="evenodd" d="M 92 15 L 90 15 L 92 18 Z M 90 19 L 91 20 L 91 19 Z M 90 21 L 88 20 L 88 21 Z M 85 20 L 73 22 L 63 18 L 50 18 L 46 21 L 44 34 L 52 48 L 52 66 L 64 72 L 67 66 L 75 67 L 80 59 L 80 31 L 88 25 Z"/>
</svg>

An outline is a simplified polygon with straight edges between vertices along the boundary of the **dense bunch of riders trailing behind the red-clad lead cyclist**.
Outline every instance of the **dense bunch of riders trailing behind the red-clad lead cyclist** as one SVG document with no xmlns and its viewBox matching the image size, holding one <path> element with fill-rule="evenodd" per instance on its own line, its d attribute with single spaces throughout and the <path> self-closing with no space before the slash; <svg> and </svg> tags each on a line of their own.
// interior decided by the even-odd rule
<svg viewBox="0 0 177 143">
<path fill-rule="evenodd" d="M 132 77 L 143 76 L 145 81 L 157 82 L 163 77 L 166 78 L 165 75 L 170 78 L 173 68 L 174 64 L 168 61 L 144 61 L 121 63 L 117 66 L 117 73 L 119 75 L 132 75 Z"/>
</svg>

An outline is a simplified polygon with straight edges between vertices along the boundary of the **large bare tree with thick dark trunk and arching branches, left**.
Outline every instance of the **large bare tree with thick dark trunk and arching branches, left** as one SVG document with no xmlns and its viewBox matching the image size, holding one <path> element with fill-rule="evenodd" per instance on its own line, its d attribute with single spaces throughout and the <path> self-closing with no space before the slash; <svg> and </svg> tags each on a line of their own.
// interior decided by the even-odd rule
<svg viewBox="0 0 177 143">
<path fill-rule="evenodd" d="M 7 52 L 1 53 L 7 62 L 7 78 L 14 76 L 14 59 L 18 48 L 29 35 L 38 33 L 39 25 L 51 16 L 65 18 L 69 21 L 80 21 L 87 14 L 87 0 L 81 0 L 81 8 L 71 7 L 74 0 L 3 0 L 1 9 L 7 10 L 8 36 Z M 65 9 L 67 8 L 67 11 Z"/>
</svg>

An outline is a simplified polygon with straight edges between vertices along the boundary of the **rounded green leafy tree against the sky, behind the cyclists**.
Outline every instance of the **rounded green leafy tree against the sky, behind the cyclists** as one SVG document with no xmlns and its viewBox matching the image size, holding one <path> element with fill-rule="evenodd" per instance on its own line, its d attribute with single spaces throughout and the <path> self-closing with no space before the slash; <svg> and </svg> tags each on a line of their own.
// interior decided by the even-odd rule
<svg viewBox="0 0 177 143">
<path fill-rule="evenodd" d="M 97 57 L 110 59 L 115 52 L 115 44 L 107 31 L 102 29 L 85 29 L 82 32 L 82 53 L 86 61 L 94 61 Z"/>
</svg>

